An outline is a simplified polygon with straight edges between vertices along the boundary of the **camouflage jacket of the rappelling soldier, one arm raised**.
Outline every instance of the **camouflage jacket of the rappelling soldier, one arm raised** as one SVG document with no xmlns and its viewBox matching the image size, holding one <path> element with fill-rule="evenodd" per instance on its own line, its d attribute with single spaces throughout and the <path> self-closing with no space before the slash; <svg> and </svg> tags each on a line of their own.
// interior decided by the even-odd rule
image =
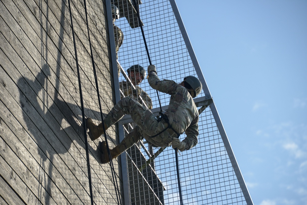
<svg viewBox="0 0 307 205">
<path fill-rule="evenodd" d="M 187 89 L 174 81 L 160 81 L 156 73 L 148 74 L 149 85 L 162 93 L 171 95 L 168 109 L 165 112 L 172 128 L 179 134 L 185 132 L 187 135 L 184 142 L 186 149 L 191 149 L 197 144 L 198 136 L 198 110 Z"/>
</svg>

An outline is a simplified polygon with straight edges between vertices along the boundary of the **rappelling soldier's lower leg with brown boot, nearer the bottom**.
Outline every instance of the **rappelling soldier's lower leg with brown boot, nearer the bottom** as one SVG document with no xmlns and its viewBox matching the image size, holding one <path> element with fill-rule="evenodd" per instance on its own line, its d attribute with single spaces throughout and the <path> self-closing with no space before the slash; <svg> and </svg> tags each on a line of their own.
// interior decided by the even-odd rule
<svg viewBox="0 0 307 205">
<path fill-rule="evenodd" d="M 136 126 L 126 137 L 124 137 L 123 141 L 121 141 L 120 144 L 118 144 L 115 148 L 110 149 L 112 159 L 115 159 L 121 153 L 125 152 L 127 149 L 131 148 L 134 144 L 136 144 L 142 139 L 143 137 L 140 134 L 140 128 Z M 101 162 L 103 164 L 108 163 L 109 157 L 107 147 L 104 141 L 101 143 L 101 152 Z"/>
</svg>

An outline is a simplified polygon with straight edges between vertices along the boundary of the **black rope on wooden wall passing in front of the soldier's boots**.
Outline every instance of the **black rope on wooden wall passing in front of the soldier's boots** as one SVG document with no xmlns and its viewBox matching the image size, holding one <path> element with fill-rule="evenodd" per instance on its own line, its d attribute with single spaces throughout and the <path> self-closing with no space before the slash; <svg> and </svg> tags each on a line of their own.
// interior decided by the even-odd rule
<svg viewBox="0 0 307 205">
<path fill-rule="evenodd" d="M 101 108 L 97 73 L 96 73 L 95 61 L 94 61 L 94 56 L 93 56 L 93 52 L 92 52 L 92 44 L 91 44 L 91 39 L 90 39 L 90 34 L 89 34 L 89 23 L 88 23 L 88 15 L 87 15 L 86 1 L 85 0 L 84 0 L 84 8 L 85 8 L 87 32 L 88 32 L 88 36 L 89 36 L 89 46 L 90 46 L 90 50 L 91 50 L 93 73 L 94 73 L 94 77 L 95 77 L 95 84 L 96 84 L 96 90 L 97 90 L 97 96 L 98 96 L 98 102 L 99 102 L 101 121 L 102 121 L 102 124 L 103 124 L 103 130 L 104 130 L 104 139 L 105 139 L 105 142 L 106 142 L 108 156 L 109 156 L 109 160 L 110 160 L 110 166 L 111 166 L 111 170 L 112 170 L 112 179 L 113 179 L 113 184 L 114 184 L 114 187 L 115 187 L 117 203 L 121 204 L 120 192 L 119 192 L 119 187 L 118 187 L 118 183 L 117 183 L 117 179 L 116 179 L 116 172 L 115 172 L 114 165 L 113 165 L 113 162 L 112 162 L 112 159 L 111 159 L 111 152 L 110 152 L 110 148 L 109 148 L 109 145 L 108 145 L 107 135 L 106 135 L 105 127 L 104 127 L 104 120 L 103 120 L 103 115 L 102 115 L 102 108 Z"/>
</svg>

